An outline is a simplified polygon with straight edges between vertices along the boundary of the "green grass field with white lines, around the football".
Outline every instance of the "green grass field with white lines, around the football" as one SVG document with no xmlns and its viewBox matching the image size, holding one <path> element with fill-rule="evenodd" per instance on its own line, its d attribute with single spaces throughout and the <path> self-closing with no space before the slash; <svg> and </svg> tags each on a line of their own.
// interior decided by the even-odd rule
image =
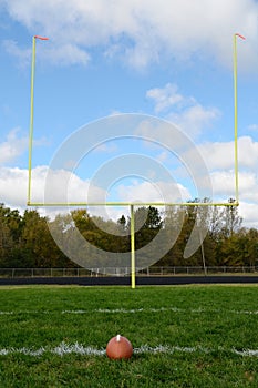
<svg viewBox="0 0 258 388">
<path fill-rule="evenodd" d="M 258 387 L 258 287 L 1 287 L 0 387 Z"/>
</svg>

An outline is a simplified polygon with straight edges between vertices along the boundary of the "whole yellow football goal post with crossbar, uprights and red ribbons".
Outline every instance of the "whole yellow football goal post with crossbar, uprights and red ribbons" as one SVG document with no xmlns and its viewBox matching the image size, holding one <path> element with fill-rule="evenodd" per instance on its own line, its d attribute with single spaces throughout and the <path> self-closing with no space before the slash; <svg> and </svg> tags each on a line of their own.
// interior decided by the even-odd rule
<svg viewBox="0 0 258 388">
<path fill-rule="evenodd" d="M 33 207 L 68 207 L 68 206 L 128 206 L 131 214 L 131 286 L 135 288 L 135 218 L 134 206 L 238 206 L 238 104 L 237 104 L 237 38 L 244 39 L 239 33 L 234 34 L 233 59 L 234 59 L 234 164 L 235 164 L 235 201 L 234 202 L 32 202 L 32 149 L 33 149 L 33 114 L 34 114 L 34 69 L 35 69 L 35 41 L 49 40 L 49 38 L 34 35 L 32 38 L 32 62 L 31 62 L 31 104 L 30 104 L 30 133 L 29 133 L 29 165 L 28 165 L 28 195 L 27 205 Z"/>
</svg>

